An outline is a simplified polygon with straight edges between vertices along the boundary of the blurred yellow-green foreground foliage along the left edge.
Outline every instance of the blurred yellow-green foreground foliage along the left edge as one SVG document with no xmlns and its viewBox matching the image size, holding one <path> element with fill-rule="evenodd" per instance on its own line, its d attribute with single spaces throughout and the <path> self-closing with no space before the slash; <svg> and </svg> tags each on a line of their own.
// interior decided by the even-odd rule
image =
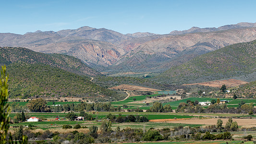
<svg viewBox="0 0 256 144">
<path fill-rule="evenodd" d="M 8 91 L 8 75 L 6 74 L 6 66 L 2 66 L 1 80 L 0 80 L 0 144 L 6 144 L 7 134 L 9 130 L 11 108 L 7 104 L 9 91 Z M 10 133 L 9 143 L 13 144 L 12 134 Z M 22 136 L 20 144 L 27 144 L 27 136 Z"/>
</svg>

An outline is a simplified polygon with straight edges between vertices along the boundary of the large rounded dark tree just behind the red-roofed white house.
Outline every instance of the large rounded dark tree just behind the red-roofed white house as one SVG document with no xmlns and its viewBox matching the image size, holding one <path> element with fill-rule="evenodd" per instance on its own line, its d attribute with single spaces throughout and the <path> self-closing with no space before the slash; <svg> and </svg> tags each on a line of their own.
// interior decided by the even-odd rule
<svg viewBox="0 0 256 144">
<path fill-rule="evenodd" d="M 46 104 L 47 102 L 45 99 L 37 98 L 30 100 L 27 104 L 27 108 L 29 108 L 32 112 L 44 112 L 47 108 Z"/>
</svg>

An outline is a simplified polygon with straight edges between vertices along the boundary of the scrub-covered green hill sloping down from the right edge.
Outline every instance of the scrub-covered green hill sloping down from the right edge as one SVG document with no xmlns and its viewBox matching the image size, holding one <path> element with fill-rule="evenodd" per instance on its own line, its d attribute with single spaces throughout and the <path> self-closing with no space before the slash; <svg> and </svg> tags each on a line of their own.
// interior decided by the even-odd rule
<svg viewBox="0 0 256 144">
<path fill-rule="evenodd" d="M 203 54 L 154 77 L 165 83 L 197 83 L 256 72 L 256 40 Z M 253 80 L 251 80 L 253 81 Z"/>
</svg>

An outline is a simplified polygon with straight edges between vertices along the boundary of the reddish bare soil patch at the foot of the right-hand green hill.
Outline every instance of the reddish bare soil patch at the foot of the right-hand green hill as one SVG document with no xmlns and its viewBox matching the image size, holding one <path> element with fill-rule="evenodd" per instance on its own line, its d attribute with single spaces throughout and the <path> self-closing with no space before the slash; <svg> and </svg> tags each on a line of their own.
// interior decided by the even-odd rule
<svg viewBox="0 0 256 144">
<path fill-rule="evenodd" d="M 221 87 L 223 84 L 225 84 L 227 87 L 234 87 L 234 86 L 239 86 L 241 84 L 248 84 L 248 83 L 241 80 L 229 79 L 229 80 L 222 80 L 222 81 L 211 81 L 211 82 L 183 84 L 183 85 L 195 85 L 195 84 L 211 86 L 211 87 Z"/>
</svg>

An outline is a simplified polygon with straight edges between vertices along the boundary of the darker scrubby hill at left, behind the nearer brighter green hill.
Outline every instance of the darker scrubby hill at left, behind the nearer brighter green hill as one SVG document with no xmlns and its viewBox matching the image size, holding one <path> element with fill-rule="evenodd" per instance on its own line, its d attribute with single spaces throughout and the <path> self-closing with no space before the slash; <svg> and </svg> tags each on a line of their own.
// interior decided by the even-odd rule
<svg viewBox="0 0 256 144">
<path fill-rule="evenodd" d="M 80 75 L 101 75 L 99 72 L 88 67 L 82 60 L 71 56 L 62 54 L 44 54 L 27 48 L 0 47 L 0 65 L 9 65 L 16 61 L 42 63 Z"/>
</svg>

